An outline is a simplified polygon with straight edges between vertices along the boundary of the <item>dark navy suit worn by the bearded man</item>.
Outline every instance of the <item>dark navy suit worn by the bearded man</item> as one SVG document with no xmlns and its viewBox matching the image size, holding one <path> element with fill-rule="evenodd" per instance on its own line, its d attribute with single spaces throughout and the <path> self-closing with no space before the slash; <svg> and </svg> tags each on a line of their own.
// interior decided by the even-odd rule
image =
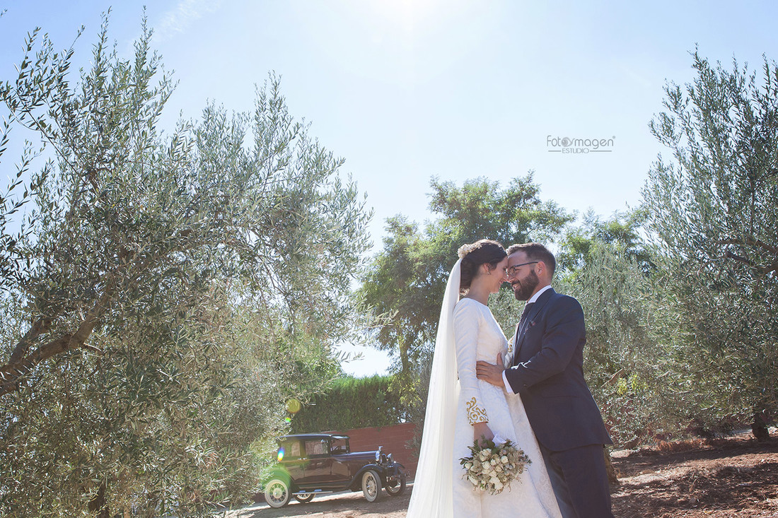
<svg viewBox="0 0 778 518">
<path fill-rule="evenodd" d="M 576 513 L 567 516 L 601 518 L 612 516 L 602 455 L 612 442 L 584 380 L 585 343 L 578 301 L 547 289 L 517 326 L 505 379 L 524 402 L 546 464 L 563 474 Z"/>
</svg>

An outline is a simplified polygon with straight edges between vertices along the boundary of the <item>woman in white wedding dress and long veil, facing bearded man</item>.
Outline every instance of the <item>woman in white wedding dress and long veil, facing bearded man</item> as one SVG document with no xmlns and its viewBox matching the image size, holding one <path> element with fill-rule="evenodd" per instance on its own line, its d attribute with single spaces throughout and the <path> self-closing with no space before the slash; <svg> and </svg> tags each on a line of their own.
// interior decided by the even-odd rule
<svg viewBox="0 0 778 518">
<path fill-rule="evenodd" d="M 506 282 L 507 263 L 496 241 L 479 240 L 459 249 L 440 309 L 408 518 L 561 516 L 520 397 L 475 377 L 475 362 L 493 362 L 499 352 L 510 365 L 513 351 L 486 305 L 489 294 Z M 476 492 L 462 478 L 459 459 L 468 457 L 468 446 L 482 436 L 510 439 L 531 460 L 498 495 Z"/>
</svg>

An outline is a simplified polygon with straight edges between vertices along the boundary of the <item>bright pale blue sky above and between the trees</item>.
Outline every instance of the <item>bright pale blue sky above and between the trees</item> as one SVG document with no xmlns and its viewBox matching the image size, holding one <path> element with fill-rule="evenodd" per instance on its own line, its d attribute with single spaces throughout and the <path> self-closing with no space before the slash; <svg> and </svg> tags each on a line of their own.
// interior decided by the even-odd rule
<svg viewBox="0 0 778 518">
<path fill-rule="evenodd" d="M 26 33 L 58 47 L 78 27 L 87 65 L 110 2 L 0 0 L 0 79 L 12 79 Z M 110 37 L 129 57 L 143 2 L 114 2 Z M 534 170 L 541 198 L 601 215 L 636 206 L 661 152 L 647 124 L 666 80 L 692 79 L 689 51 L 729 65 L 778 59 L 778 4 L 517 0 L 158 0 L 154 47 L 180 84 L 163 124 L 208 100 L 249 110 L 275 71 L 290 111 L 346 159 L 375 216 L 429 219 L 429 179 L 508 184 Z M 609 152 L 555 152 L 549 137 L 612 139 Z M 0 181 L 12 173 L 0 164 Z M 368 350 L 346 369 L 383 372 Z"/>
</svg>

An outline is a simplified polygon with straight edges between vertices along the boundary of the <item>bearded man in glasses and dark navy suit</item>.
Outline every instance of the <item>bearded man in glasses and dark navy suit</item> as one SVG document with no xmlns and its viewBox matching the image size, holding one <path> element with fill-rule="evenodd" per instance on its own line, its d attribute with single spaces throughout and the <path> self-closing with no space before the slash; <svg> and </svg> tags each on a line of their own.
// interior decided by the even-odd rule
<svg viewBox="0 0 778 518">
<path fill-rule="evenodd" d="M 584 381 L 584 312 L 551 287 L 556 261 L 540 243 L 508 248 L 508 282 L 527 305 L 513 366 L 478 362 L 478 378 L 520 394 L 564 518 L 612 518 L 603 447 L 612 444 Z"/>
</svg>

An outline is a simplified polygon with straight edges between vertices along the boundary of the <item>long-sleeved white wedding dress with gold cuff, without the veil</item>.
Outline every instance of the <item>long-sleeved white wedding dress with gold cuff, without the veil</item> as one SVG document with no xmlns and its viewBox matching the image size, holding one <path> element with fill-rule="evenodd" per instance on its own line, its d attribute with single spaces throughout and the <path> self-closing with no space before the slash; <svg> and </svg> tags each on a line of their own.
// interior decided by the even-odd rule
<svg viewBox="0 0 778 518">
<path fill-rule="evenodd" d="M 538 441 L 520 396 L 507 394 L 505 390 L 475 377 L 475 362 L 478 360 L 494 363 L 497 353 L 502 353 L 503 359 L 510 362 L 513 355 L 489 307 L 474 299 L 461 299 L 454 308 L 454 337 L 460 385 L 452 459 L 454 517 L 561 516 Z M 472 425 L 482 421 L 488 421 L 489 429 L 495 436 L 516 443 L 532 461 L 527 471 L 499 495 L 475 492 L 471 483 L 461 476 L 464 468 L 459 459 L 470 456 L 468 446 L 473 443 Z"/>
</svg>

